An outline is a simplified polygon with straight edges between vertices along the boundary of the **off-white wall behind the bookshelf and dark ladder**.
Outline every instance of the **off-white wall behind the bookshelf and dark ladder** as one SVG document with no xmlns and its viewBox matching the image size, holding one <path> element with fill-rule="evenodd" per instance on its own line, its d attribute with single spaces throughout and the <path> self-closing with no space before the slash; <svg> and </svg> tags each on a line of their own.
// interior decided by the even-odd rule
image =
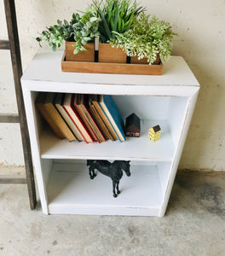
<svg viewBox="0 0 225 256">
<path fill-rule="evenodd" d="M 202 85 L 180 167 L 224 171 L 225 3 L 220 0 L 140 2 L 147 6 L 151 14 L 170 21 L 178 33 L 173 54 L 184 57 Z M 33 39 L 38 36 L 38 32 L 45 26 L 54 24 L 57 19 L 70 19 L 72 12 L 84 9 L 88 3 L 90 1 L 15 1 L 23 67 L 27 67 L 38 49 L 38 44 Z M 0 38 L 6 39 L 3 1 L 0 3 L 0 24 Z M 10 62 L 7 61 L 5 52 L 0 51 L 0 56 L 0 111 L 16 112 L 12 78 L 7 72 L 11 68 Z M 20 131 L 13 131 L 15 137 L 20 137 Z M 20 142 L 14 141 L 16 148 L 20 150 L 13 153 L 7 143 L 9 131 L 3 131 L 1 128 L 0 133 L 3 137 L 3 140 L 0 140 L 0 148 L 4 148 L 0 161 L 7 165 L 22 165 L 21 153 L 18 156 L 18 152 L 21 152 Z M 13 156 L 9 157 L 9 153 Z"/>
</svg>

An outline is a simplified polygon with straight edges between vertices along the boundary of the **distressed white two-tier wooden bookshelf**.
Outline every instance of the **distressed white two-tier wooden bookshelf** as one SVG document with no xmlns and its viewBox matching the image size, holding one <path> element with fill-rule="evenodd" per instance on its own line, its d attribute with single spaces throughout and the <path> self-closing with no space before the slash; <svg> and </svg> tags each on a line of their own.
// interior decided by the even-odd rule
<svg viewBox="0 0 225 256">
<path fill-rule="evenodd" d="M 182 154 L 199 83 L 182 57 L 164 63 L 161 76 L 62 73 L 62 51 L 39 50 L 21 83 L 40 200 L 45 214 L 164 216 Z M 69 143 L 49 130 L 35 108 L 40 91 L 113 96 L 125 119 L 141 118 L 141 137 L 106 143 Z M 152 143 L 148 129 L 161 126 Z M 113 198 L 112 181 L 89 179 L 86 160 L 130 160 Z"/>
</svg>

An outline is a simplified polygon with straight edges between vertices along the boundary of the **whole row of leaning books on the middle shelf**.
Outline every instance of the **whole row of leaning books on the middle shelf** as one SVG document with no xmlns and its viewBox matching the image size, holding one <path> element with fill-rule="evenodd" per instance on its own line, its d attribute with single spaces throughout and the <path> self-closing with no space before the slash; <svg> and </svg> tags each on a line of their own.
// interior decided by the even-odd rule
<svg viewBox="0 0 225 256">
<path fill-rule="evenodd" d="M 125 141 L 124 120 L 112 96 L 41 92 L 35 105 L 61 139 L 86 143 Z"/>
</svg>

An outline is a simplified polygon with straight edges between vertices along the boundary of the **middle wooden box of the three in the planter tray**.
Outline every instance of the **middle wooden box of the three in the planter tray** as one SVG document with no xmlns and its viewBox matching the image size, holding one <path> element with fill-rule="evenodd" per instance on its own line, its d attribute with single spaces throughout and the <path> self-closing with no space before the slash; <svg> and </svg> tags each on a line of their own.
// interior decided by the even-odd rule
<svg viewBox="0 0 225 256">
<path fill-rule="evenodd" d="M 126 63 L 127 55 L 123 49 L 112 47 L 111 44 L 99 44 L 99 62 Z"/>
</svg>

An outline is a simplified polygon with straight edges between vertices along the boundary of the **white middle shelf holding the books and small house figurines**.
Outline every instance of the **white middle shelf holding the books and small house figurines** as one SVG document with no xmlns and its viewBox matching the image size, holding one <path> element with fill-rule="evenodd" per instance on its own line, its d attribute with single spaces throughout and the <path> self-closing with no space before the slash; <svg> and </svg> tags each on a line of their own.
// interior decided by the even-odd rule
<svg viewBox="0 0 225 256">
<path fill-rule="evenodd" d="M 159 124 L 162 129 L 161 139 L 151 142 L 148 129 Z M 40 152 L 43 159 L 101 159 L 101 160 L 172 160 L 175 145 L 170 129 L 165 121 L 141 120 L 141 137 L 127 137 L 126 142 L 107 141 L 105 143 L 69 143 L 60 140 L 49 129 L 44 129 L 40 136 Z M 63 148 L 63 150 L 62 150 Z"/>
</svg>

